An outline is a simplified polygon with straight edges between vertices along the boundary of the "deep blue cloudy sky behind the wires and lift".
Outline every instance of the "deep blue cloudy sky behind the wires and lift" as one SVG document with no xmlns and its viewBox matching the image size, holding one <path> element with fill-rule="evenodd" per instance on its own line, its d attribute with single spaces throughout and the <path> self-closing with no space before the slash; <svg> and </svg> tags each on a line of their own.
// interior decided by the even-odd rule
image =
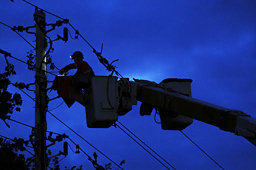
<svg viewBox="0 0 256 170">
<path fill-rule="evenodd" d="M 254 0 L 29 0 L 29 2 L 68 18 L 79 33 L 97 50 L 103 43 L 102 56 L 115 62 L 117 71 L 130 80 L 144 79 L 161 82 L 165 78 L 190 78 L 193 98 L 213 103 L 229 109 L 237 109 L 256 117 L 255 109 L 255 64 L 256 64 L 256 3 Z M 0 21 L 13 27 L 34 25 L 34 7 L 21 1 L 1 1 Z M 46 22 L 55 23 L 56 18 L 46 13 Z M 69 25 L 56 27 L 47 35 L 55 39 L 63 35 Z M 49 29 L 50 27 L 47 27 Z M 35 31 L 34 28 L 31 31 Z M 26 52 L 31 48 L 10 28 L 0 24 L 0 48 L 12 56 L 26 61 Z M 20 33 L 35 46 L 35 37 L 26 32 Z M 98 61 L 92 49 L 81 37 L 53 43 L 50 53 L 58 68 L 72 63 L 69 56 L 81 51 L 84 60 L 92 67 L 95 75 L 107 76 L 110 73 Z M 0 54 L 0 72 L 6 66 Z M 8 61 L 15 66 L 17 75 L 11 82 L 34 82 L 34 72 L 26 65 L 12 58 Z M 48 69 L 49 70 L 49 69 Z M 57 70 L 54 70 L 57 71 Z M 69 71 L 69 75 L 76 70 Z M 54 76 L 47 74 L 48 80 Z M 51 83 L 48 83 L 48 87 Z M 34 88 L 34 86 L 32 86 Z M 11 93 L 21 94 L 21 112 L 11 115 L 17 120 L 34 126 L 34 102 L 19 89 L 9 86 Z M 27 93 L 34 97 L 30 91 Z M 57 96 L 56 91 L 49 98 Z M 62 102 L 56 99 L 49 102 L 49 110 Z M 151 116 L 139 115 L 140 102 L 132 106 L 132 111 L 118 120 L 135 133 L 169 164 L 177 170 L 220 170 L 220 168 L 194 146 L 179 131 L 163 131 Z M 85 109 L 78 103 L 71 108 L 62 104 L 52 113 L 79 133 L 98 150 L 114 162 L 125 160 L 124 170 L 165 170 L 152 156 L 146 153 L 120 129 L 89 129 L 86 126 Z M 46 115 L 47 130 L 68 135 L 92 157 L 95 150 L 73 132 Z M 157 117 L 159 121 L 159 117 Z M 28 140 L 31 128 L 12 121 L 6 121 L 8 129 L 1 121 L 0 135 L 9 138 Z M 219 130 L 217 127 L 194 122 L 183 130 L 199 147 L 226 170 L 255 170 L 256 148 L 244 138 Z M 68 144 L 75 150 L 75 146 Z M 47 142 L 49 144 L 49 142 Z M 63 141 L 50 147 L 52 154 L 63 151 Z M 33 152 L 32 149 L 28 148 Z M 109 161 L 98 152 L 98 163 Z M 26 156 L 30 156 L 25 153 Z M 63 156 L 60 156 L 61 159 Z M 63 165 L 93 169 L 87 157 L 72 153 L 60 162 Z M 116 166 L 112 166 L 113 169 Z M 171 169 L 171 167 L 169 167 Z"/>
</svg>

